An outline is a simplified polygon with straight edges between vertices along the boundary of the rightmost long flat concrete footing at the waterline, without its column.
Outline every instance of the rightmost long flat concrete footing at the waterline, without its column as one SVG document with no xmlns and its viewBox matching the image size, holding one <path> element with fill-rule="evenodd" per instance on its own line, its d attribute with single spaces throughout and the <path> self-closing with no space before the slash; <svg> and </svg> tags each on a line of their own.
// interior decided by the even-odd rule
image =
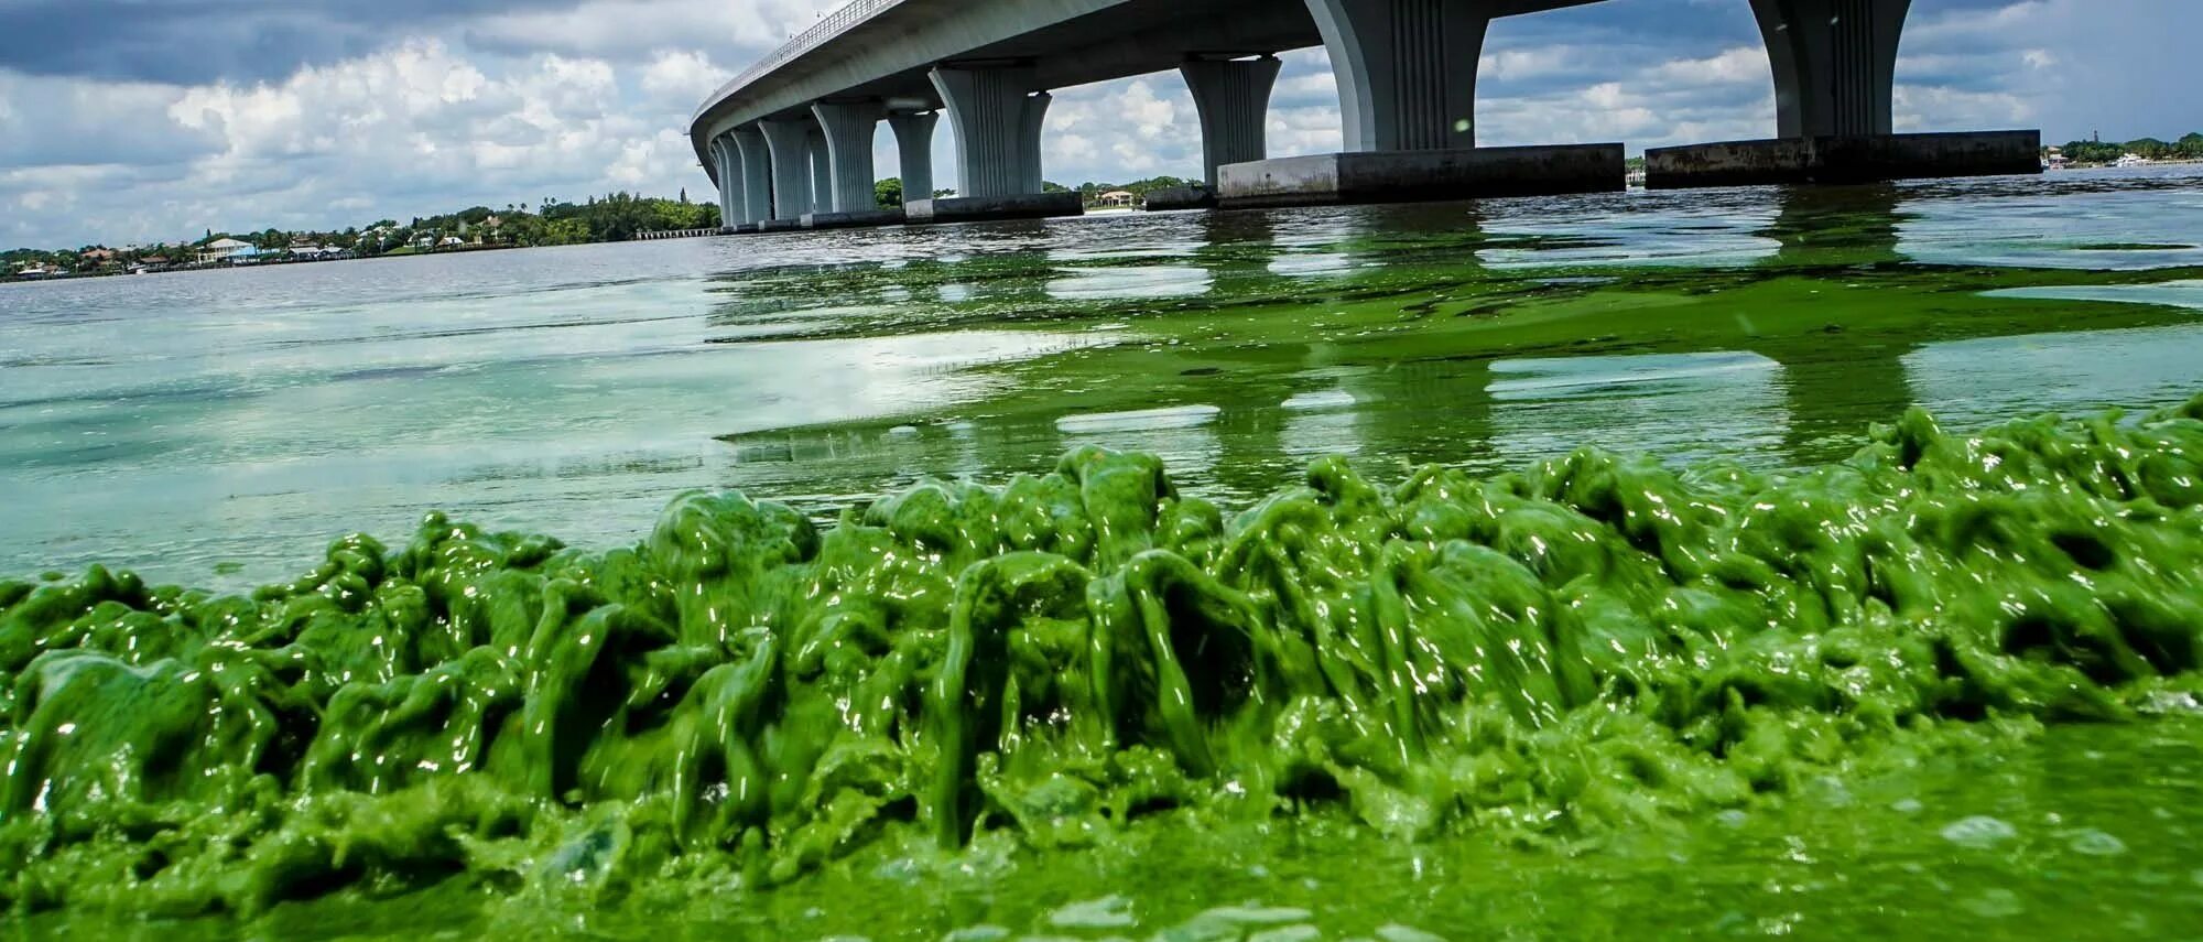
<svg viewBox="0 0 2203 942">
<path fill-rule="evenodd" d="M 2040 152 L 2042 132 L 2036 130 L 1723 141 L 1646 150 L 1646 187 L 2040 174 Z"/>
</svg>

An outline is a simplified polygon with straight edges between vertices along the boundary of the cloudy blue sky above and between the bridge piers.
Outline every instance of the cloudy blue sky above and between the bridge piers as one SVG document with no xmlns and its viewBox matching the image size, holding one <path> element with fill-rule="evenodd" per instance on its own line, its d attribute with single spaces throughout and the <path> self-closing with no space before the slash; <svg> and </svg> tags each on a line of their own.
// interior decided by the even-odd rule
<svg viewBox="0 0 2203 942">
<path fill-rule="evenodd" d="M 0 0 L 0 247 L 344 229 L 604 191 L 712 200 L 687 117 L 839 0 Z M 1914 0 L 1899 130 L 2203 130 L 2203 0 Z M 1478 143 L 1773 134 L 1747 0 L 1500 20 Z M 954 187 L 947 123 L 936 185 Z M 1273 156 L 1339 147 L 1324 53 L 1284 55 Z M 892 176 L 881 125 L 877 167 Z M 1176 73 L 1055 90 L 1046 178 L 1198 176 Z"/>
</svg>

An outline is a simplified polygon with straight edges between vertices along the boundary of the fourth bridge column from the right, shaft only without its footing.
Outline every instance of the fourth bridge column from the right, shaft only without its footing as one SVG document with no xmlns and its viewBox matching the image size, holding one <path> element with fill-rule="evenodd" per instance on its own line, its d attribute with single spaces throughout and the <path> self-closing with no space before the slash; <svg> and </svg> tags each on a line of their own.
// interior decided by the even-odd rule
<svg viewBox="0 0 2203 942">
<path fill-rule="evenodd" d="M 934 90 L 956 134 L 958 196 L 1040 191 L 1040 117 L 1033 66 L 934 68 Z"/>
</svg>

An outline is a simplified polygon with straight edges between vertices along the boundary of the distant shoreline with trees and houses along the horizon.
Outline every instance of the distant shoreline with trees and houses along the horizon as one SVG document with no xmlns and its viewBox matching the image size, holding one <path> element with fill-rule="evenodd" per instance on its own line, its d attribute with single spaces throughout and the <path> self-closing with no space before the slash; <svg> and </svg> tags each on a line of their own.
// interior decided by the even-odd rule
<svg viewBox="0 0 2203 942">
<path fill-rule="evenodd" d="M 2137 167 L 2150 163 L 2203 161 L 2203 132 L 2177 141 L 2152 136 L 2135 141 L 2069 141 L 2042 147 L 2044 169 Z M 1632 183 L 1641 183 L 1643 158 L 1628 161 Z M 1135 183 L 1082 183 L 1042 189 L 1077 189 L 1088 209 L 1135 209 L 1154 189 L 1185 187 L 1198 180 L 1150 176 Z M 941 189 L 934 196 L 954 196 Z M 875 198 L 883 209 L 903 205 L 899 178 L 879 180 Z M 414 218 L 412 222 L 377 220 L 344 231 L 205 231 L 196 240 L 79 249 L 11 249 L 0 253 L 0 282 L 143 275 L 159 271 L 335 262 L 352 258 L 427 255 L 489 249 L 529 249 L 551 244 L 626 242 L 672 233 L 718 231 L 718 205 L 690 202 L 687 191 L 668 200 L 639 194 L 606 194 L 584 202 L 544 198 L 527 202 L 469 207 L 456 213 Z"/>
</svg>

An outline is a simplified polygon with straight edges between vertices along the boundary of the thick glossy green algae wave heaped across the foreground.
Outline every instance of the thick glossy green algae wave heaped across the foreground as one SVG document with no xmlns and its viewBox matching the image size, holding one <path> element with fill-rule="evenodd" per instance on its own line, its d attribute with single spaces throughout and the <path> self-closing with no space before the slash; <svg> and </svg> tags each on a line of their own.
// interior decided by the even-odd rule
<svg viewBox="0 0 2203 942">
<path fill-rule="evenodd" d="M 610 552 L 432 515 L 249 599 L 0 581 L 0 896 L 612 900 L 1159 812 L 1538 839 L 2192 709 L 2199 643 L 2203 398 L 1787 475 L 1320 460 L 1229 517 L 1102 449 L 828 528 L 690 493 Z"/>
</svg>

